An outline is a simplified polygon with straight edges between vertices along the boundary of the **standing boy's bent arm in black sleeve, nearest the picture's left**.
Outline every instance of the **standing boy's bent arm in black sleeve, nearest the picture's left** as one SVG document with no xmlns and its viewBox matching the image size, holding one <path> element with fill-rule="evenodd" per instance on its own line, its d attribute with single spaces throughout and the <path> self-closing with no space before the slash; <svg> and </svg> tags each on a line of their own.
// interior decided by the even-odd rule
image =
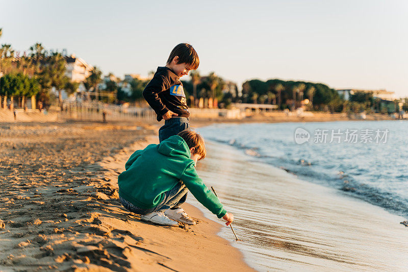
<svg viewBox="0 0 408 272">
<path fill-rule="evenodd" d="M 168 80 L 163 75 L 156 75 L 150 80 L 143 90 L 142 94 L 144 99 L 158 116 L 163 116 L 169 111 L 159 97 L 159 93 L 167 90 L 168 88 L 170 88 L 170 83 Z"/>
</svg>

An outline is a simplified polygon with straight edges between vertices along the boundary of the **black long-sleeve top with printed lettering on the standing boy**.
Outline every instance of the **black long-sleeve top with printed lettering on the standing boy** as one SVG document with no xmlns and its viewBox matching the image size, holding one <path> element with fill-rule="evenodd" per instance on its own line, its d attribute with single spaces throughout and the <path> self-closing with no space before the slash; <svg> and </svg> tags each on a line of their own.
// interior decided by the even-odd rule
<svg viewBox="0 0 408 272">
<path fill-rule="evenodd" d="M 157 120 L 163 119 L 167 111 L 178 117 L 189 117 L 186 95 L 180 78 L 168 67 L 158 67 L 155 75 L 143 90 L 143 97 L 156 112 Z"/>
</svg>

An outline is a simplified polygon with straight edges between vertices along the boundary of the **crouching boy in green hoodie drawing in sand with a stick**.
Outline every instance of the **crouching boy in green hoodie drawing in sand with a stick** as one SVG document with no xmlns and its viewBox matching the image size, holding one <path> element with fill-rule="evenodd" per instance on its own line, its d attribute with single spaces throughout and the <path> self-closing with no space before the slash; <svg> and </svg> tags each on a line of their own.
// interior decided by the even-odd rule
<svg viewBox="0 0 408 272">
<path fill-rule="evenodd" d="M 160 144 L 149 144 L 132 154 L 118 177 L 119 199 L 123 207 L 141 215 L 141 220 L 162 226 L 179 226 L 177 221 L 195 225 L 180 207 L 189 190 L 195 198 L 229 225 L 227 213 L 195 170 L 197 160 L 206 157 L 201 135 L 182 131 Z"/>
</svg>

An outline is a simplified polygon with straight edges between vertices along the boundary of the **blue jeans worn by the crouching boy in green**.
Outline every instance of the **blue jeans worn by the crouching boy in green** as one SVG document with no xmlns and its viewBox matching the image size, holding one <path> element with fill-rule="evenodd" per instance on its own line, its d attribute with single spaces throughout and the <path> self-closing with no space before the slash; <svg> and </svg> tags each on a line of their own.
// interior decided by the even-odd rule
<svg viewBox="0 0 408 272">
<path fill-rule="evenodd" d="M 150 209 L 142 209 L 136 207 L 120 196 L 119 201 L 123 205 L 123 207 L 126 208 L 126 210 L 129 210 L 136 214 L 143 215 L 151 212 L 164 212 L 165 210 L 168 210 L 170 208 L 178 208 L 180 205 L 182 205 L 186 201 L 185 196 L 187 195 L 187 191 L 188 189 L 186 185 L 184 185 L 183 182 L 179 182 L 171 190 L 165 192 L 165 196 L 162 202 L 160 202 L 156 207 Z"/>
</svg>

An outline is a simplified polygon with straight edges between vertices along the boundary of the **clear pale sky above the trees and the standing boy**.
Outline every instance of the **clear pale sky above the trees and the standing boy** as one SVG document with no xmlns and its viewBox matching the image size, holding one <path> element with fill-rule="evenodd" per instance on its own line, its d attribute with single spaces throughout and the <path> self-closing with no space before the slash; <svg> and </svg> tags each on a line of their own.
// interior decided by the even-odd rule
<svg viewBox="0 0 408 272">
<path fill-rule="evenodd" d="M 406 0 L 0 0 L 0 10 L 0 43 L 66 48 L 122 78 L 146 76 L 189 42 L 201 75 L 238 85 L 280 78 L 408 96 Z"/>
</svg>

